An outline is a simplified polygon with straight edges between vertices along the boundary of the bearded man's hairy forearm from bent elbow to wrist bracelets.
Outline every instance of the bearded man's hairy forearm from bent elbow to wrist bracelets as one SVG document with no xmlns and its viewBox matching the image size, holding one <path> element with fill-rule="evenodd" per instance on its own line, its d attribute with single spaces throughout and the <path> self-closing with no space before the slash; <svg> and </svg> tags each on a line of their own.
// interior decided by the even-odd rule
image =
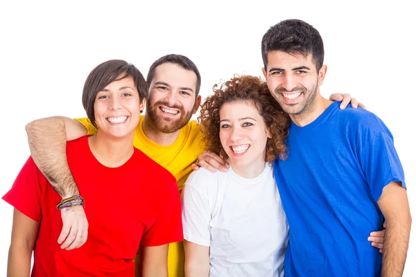
<svg viewBox="0 0 416 277">
<path fill-rule="evenodd" d="M 43 118 L 26 125 L 33 161 L 62 198 L 79 195 L 67 162 L 64 120 Z"/>
</svg>

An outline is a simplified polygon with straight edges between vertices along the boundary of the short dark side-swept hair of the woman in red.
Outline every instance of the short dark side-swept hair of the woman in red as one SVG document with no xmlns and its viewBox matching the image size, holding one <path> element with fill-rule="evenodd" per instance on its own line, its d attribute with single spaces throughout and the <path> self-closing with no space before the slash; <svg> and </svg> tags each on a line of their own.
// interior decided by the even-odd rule
<svg viewBox="0 0 416 277">
<path fill-rule="evenodd" d="M 146 80 L 144 80 L 144 76 L 133 64 L 129 64 L 123 60 L 108 60 L 107 62 L 98 64 L 89 73 L 83 89 L 83 106 L 89 120 L 95 127 L 97 126 L 94 116 L 94 102 L 97 93 L 102 91 L 108 84 L 126 77 L 133 78 L 136 89 L 139 92 L 140 102 L 147 99 L 148 85 Z"/>
</svg>

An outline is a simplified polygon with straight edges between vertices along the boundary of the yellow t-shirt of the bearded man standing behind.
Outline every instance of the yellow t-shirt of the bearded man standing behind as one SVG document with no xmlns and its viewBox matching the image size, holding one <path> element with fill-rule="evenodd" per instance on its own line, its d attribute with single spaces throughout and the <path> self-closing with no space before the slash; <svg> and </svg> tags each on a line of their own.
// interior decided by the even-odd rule
<svg viewBox="0 0 416 277">
<path fill-rule="evenodd" d="M 191 164 L 198 159 L 204 150 L 202 133 L 195 120 L 189 121 L 181 130 L 175 143 L 171 145 L 159 145 L 150 141 L 141 128 L 144 116 L 140 116 L 139 125 L 135 129 L 133 145 L 144 154 L 148 155 L 159 165 L 166 168 L 175 176 L 177 188 L 182 193 L 185 181 L 192 172 Z M 87 128 L 89 135 L 96 134 L 97 130 L 88 118 L 76 118 L 78 122 Z M 184 277 L 184 247 L 182 242 L 169 244 L 168 251 L 169 277 Z"/>
</svg>

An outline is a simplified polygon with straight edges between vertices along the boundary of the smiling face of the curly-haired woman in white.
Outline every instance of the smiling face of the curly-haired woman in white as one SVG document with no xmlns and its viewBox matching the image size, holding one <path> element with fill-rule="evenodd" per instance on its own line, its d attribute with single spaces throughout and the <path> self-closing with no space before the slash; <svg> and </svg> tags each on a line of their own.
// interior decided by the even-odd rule
<svg viewBox="0 0 416 277">
<path fill-rule="evenodd" d="M 220 108 L 220 141 L 233 168 L 264 168 L 268 137 L 266 124 L 252 102 L 227 102 Z"/>
</svg>

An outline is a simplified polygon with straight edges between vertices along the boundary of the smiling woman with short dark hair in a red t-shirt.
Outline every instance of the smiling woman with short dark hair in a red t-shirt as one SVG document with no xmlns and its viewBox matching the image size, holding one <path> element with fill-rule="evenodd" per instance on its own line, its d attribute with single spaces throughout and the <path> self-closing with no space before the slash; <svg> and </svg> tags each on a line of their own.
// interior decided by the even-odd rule
<svg viewBox="0 0 416 277">
<path fill-rule="evenodd" d="M 15 207 L 8 276 L 134 276 L 139 247 L 142 276 L 167 276 L 168 243 L 183 239 L 180 195 L 173 175 L 132 146 L 147 96 L 143 75 L 123 60 L 89 74 L 83 105 L 98 132 L 67 143 L 82 197 L 62 200 L 26 161 L 3 196 Z M 85 208 L 88 238 L 66 250 L 58 244 L 60 210 L 73 206 Z"/>
</svg>

